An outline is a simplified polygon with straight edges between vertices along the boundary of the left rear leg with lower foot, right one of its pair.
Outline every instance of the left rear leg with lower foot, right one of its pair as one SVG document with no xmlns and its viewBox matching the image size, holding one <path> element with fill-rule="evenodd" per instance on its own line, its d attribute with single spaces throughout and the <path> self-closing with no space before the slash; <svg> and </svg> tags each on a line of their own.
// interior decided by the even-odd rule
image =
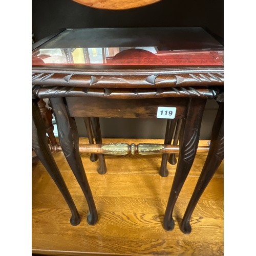
<svg viewBox="0 0 256 256">
<path fill-rule="evenodd" d="M 98 117 L 91 117 L 92 129 L 95 138 L 96 144 L 102 144 L 101 131 L 100 131 L 100 123 Z M 105 157 L 102 154 L 99 154 L 99 167 L 97 169 L 99 174 L 106 173 L 106 163 Z"/>
</svg>

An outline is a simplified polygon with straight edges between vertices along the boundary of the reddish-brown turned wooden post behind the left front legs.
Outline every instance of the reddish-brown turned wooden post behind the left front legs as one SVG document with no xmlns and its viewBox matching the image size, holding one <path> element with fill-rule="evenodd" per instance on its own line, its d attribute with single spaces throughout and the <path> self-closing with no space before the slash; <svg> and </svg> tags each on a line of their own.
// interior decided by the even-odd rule
<svg viewBox="0 0 256 256">
<path fill-rule="evenodd" d="M 56 145 L 57 141 L 53 133 L 54 126 L 52 124 L 52 113 L 48 108 L 46 108 L 46 102 L 44 100 L 40 99 L 37 104 L 39 106 L 42 119 L 45 122 L 46 132 L 49 136 L 49 139 L 53 145 Z"/>
</svg>

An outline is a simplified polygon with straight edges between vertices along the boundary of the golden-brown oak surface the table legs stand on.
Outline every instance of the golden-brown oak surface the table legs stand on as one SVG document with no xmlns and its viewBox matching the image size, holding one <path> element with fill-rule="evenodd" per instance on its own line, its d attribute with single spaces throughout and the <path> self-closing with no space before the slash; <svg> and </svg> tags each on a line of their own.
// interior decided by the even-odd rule
<svg viewBox="0 0 256 256">
<path fill-rule="evenodd" d="M 163 140 L 103 139 L 103 143 L 163 143 Z M 87 144 L 88 139 L 80 139 Z M 207 141 L 200 141 L 207 145 Z M 223 164 L 201 197 L 192 232 L 179 229 L 207 153 L 196 155 L 174 209 L 175 228 L 163 229 L 163 216 L 176 165 L 160 177 L 161 155 L 105 156 L 105 175 L 98 162 L 82 155 L 82 162 L 98 210 L 98 223 L 90 226 L 88 206 L 62 152 L 54 158 L 81 216 L 71 226 L 70 210 L 58 188 L 37 160 L 32 164 L 32 253 L 40 255 L 223 255 Z"/>
</svg>

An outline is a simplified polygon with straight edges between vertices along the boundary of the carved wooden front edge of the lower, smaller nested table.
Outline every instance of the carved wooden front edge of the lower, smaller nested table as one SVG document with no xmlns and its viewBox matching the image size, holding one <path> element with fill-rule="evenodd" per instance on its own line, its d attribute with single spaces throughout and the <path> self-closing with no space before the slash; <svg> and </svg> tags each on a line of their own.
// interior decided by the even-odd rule
<svg viewBox="0 0 256 256">
<path fill-rule="evenodd" d="M 40 87 L 35 86 L 32 93 L 37 98 L 52 97 L 103 97 L 121 99 L 145 98 L 214 98 L 218 91 L 203 87 L 177 87 L 177 88 L 81 88 L 81 87 Z"/>
</svg>

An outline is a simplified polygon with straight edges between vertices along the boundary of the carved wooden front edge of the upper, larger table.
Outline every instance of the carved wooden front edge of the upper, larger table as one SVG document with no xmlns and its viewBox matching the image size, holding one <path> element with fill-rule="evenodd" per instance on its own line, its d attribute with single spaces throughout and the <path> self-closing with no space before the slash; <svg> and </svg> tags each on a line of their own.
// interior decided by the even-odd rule
<svg viewBox="0 0 256 256">
<path fill-rule="evenodd" d="M 116 67 L 114 67 L 116 68 Z M 130 67 L 131 68 L 131 67 Z M 132 67 L 134 68 L 134 67 Z M 170 88 L 223 86 L 223 67 L 179 67 L 151 70 L 32 68 L 32 84 L 83 88 Z M 158 66 L 159 68 L 159 66 Z M 48 71 L 49 70 L 49 71 Z M 202 84 L 203 83 L 203 84 Z"/>
</svg>

